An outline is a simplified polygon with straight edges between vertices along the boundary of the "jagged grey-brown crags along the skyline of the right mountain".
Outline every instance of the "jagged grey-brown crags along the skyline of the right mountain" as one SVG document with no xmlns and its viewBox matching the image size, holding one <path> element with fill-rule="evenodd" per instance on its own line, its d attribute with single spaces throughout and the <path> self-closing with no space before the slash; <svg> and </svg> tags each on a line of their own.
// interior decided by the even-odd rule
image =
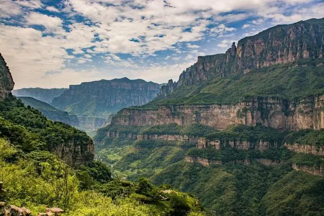
<svg viewBox="0 0 324 216">
<path fill-rule="evenodd" d="M 323 34 L 324 19 L 274 26 L 239 40 L 237 47 L 233 43 L 225 54 L 198 57 L 194 65 L 181 73 L 178 82 L 169 82 L 159 95 L 170 94 L 180 85 L 198 84 L 234 73 L 248 73 L 252 68 L 298 59 L 322 58 Z"/>
</svg>

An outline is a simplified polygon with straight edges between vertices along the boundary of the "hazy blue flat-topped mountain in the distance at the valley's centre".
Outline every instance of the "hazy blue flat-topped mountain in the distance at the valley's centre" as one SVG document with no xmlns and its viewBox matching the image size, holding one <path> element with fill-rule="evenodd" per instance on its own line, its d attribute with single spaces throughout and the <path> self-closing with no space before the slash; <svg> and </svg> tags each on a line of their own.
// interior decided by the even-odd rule
<svg viewBox="0 0 324 216">
<path fill-rule="evenodd" d="M 143 105 L 159 92 L 160 85 L 142 79 L 100 80 L 70 85 L 51 105 L 79 117 L 106 118 L 121 108 Z"/>
</svg>

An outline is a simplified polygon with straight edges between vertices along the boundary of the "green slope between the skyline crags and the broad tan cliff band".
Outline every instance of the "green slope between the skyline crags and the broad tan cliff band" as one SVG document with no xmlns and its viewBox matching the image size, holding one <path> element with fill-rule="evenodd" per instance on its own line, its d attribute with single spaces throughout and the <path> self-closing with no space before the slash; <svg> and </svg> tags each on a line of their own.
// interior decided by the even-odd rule
<svg viewBox="0 0 324 216">
<path fill-rule="evenodd" d="M 199 85 L 180 86 L 166 98 L 156 98 L 140 108 L 170 104 L 233 104 L 251 97 L 294 100 L 324 93 L 322 59 L 253 69 L 247 74 L 215 77 Z"/>
</svg>

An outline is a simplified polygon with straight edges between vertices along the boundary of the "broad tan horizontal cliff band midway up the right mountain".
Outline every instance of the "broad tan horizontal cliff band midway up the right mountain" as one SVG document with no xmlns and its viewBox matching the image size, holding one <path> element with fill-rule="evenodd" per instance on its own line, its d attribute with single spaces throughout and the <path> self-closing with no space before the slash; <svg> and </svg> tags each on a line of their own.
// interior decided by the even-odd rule
<svg viewBox="0 0 324 216">
<path fill-rule="evenodd" d="M 165 105 L 158 109 L 123 109 L 112 121 L 121 125 L 205 124 L 224 129 L 232 124 L 260 123 L 279 130 L 324 128 L 324 95 L 288 101 L 253 98 L 234 105 Z"/>
</svg>

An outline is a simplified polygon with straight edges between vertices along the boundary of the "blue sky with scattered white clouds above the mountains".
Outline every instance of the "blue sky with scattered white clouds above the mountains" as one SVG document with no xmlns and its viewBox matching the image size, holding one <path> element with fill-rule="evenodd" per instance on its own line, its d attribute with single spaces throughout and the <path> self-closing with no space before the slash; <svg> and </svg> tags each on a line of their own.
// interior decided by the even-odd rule
<svg viewBox="0 0 324 216">
<path fill-rule="evenodd" d="M 0 53 L 15 89 L 121 77 L 163 83 L 198 56 L 323 11 L 324 0 L 0 0 Z"/>
</svg>

